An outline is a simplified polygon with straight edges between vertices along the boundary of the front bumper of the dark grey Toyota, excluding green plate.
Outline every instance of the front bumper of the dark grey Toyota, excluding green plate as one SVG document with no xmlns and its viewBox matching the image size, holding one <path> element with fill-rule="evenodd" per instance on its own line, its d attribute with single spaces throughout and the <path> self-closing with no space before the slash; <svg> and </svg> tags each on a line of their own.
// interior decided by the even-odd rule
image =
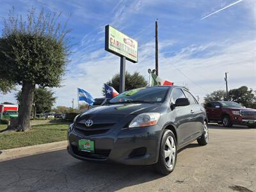
<svg viewBox="0 0 256 192">
<path fill-rule="evenodd" d="M 95 142 L 95 152 L 78 149 L 80 139 Z M 136 129 L 115 129 L 104 134 L 84 136 L 68 131 L 68 153 L 81 160 L 122 164 L 154 164 L 158 160 L 161 127 L 154 125 Z"/>
</svg>

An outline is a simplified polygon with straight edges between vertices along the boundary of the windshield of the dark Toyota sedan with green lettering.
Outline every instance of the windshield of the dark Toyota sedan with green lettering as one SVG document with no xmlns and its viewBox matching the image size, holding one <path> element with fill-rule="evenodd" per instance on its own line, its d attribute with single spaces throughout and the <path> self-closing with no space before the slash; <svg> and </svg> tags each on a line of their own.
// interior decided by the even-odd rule
<svg viewBox="0 0 256 192">
<path fill-rule="evenodd" d="M 113 99 L 109 100 L 108 103 L 113 104 L 122 102 L 163 102 L 168 90 L 168 86 L 138 88 L 121 93 L 120 95 L 117 95 Z"/>
</svg>

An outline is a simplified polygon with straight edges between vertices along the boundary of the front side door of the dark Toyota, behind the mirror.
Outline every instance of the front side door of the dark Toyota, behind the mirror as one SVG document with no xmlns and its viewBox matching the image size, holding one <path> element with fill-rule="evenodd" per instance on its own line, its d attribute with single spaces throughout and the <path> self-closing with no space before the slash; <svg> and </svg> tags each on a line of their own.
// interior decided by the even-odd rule
<svg viewBox="0 0 256 192">
<path fill-rule="evenodd" d="M 186 98 L 184 92 L 180 88 L 173 88 L 170 100 L 171 104 L 175 104 L 175 101 L 179 98 Z M 172 120 L 177 127 L 179 146 L 188 142 L 193 132 L 195 132 L 192 122 L 193 113 L 191 113 L 191 106 L 175 107 L 170 113 L 170 118 L 174 118 Z"/>
</svg>

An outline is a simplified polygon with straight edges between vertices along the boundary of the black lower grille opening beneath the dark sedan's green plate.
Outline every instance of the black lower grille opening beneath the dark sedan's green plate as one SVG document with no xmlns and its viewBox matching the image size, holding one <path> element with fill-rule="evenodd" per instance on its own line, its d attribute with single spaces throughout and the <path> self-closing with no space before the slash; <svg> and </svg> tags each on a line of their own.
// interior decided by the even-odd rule
<svg viewBox="0 0 256 192">
<path fill-rule="evenodd" d="M 100 160 L 107 159 L 111 151 L 110 149 L 109 150 L 95 149 L 95 151 L 92 153 L 92 152 L 84 152 L 84 151 L 78 150 L 78 148 L 74 145 L 71 145 L 71 147 L 75 155 L 80 157 L 90 158 L 90 159 L 100 159 Z"/>
</svg>

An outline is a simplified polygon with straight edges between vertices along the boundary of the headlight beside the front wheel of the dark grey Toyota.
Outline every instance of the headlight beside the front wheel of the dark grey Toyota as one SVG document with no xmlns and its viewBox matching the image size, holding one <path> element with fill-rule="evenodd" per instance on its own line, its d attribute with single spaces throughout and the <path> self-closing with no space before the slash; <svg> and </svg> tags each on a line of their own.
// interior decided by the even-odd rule
<svg viewBox="0 0 256 192">
<path fill-rule="evenodd" d="M 129 124 L 129 128 L 156 125 L 159 118 L 159 113 L 141 113 L 132 120 L 132 122 Z"/>
</svg>

